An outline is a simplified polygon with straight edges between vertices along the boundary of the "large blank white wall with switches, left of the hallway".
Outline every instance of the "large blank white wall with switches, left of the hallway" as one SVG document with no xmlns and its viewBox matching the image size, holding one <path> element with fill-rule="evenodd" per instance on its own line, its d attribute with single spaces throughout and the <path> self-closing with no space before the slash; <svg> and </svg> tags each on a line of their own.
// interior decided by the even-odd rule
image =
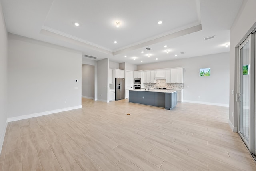
<svg viewBox="0 0 256 171">
<path fill-rule="evenodd" d="M 8 121 L 81 107 L 81 56 L 8 34 Z"/>
</svg>

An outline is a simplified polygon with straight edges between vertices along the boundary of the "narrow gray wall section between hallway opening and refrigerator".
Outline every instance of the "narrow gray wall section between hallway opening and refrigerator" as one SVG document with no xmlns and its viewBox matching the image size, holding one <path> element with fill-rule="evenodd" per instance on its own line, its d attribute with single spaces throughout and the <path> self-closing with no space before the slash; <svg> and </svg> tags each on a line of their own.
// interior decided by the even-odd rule
<svg viewBox="0 0 256 171">
<path fill-rule="evenodd" d="M 108 101 L 108 58 L 97 61 L 97 99 L 99 101 Z"/>
</svg>

